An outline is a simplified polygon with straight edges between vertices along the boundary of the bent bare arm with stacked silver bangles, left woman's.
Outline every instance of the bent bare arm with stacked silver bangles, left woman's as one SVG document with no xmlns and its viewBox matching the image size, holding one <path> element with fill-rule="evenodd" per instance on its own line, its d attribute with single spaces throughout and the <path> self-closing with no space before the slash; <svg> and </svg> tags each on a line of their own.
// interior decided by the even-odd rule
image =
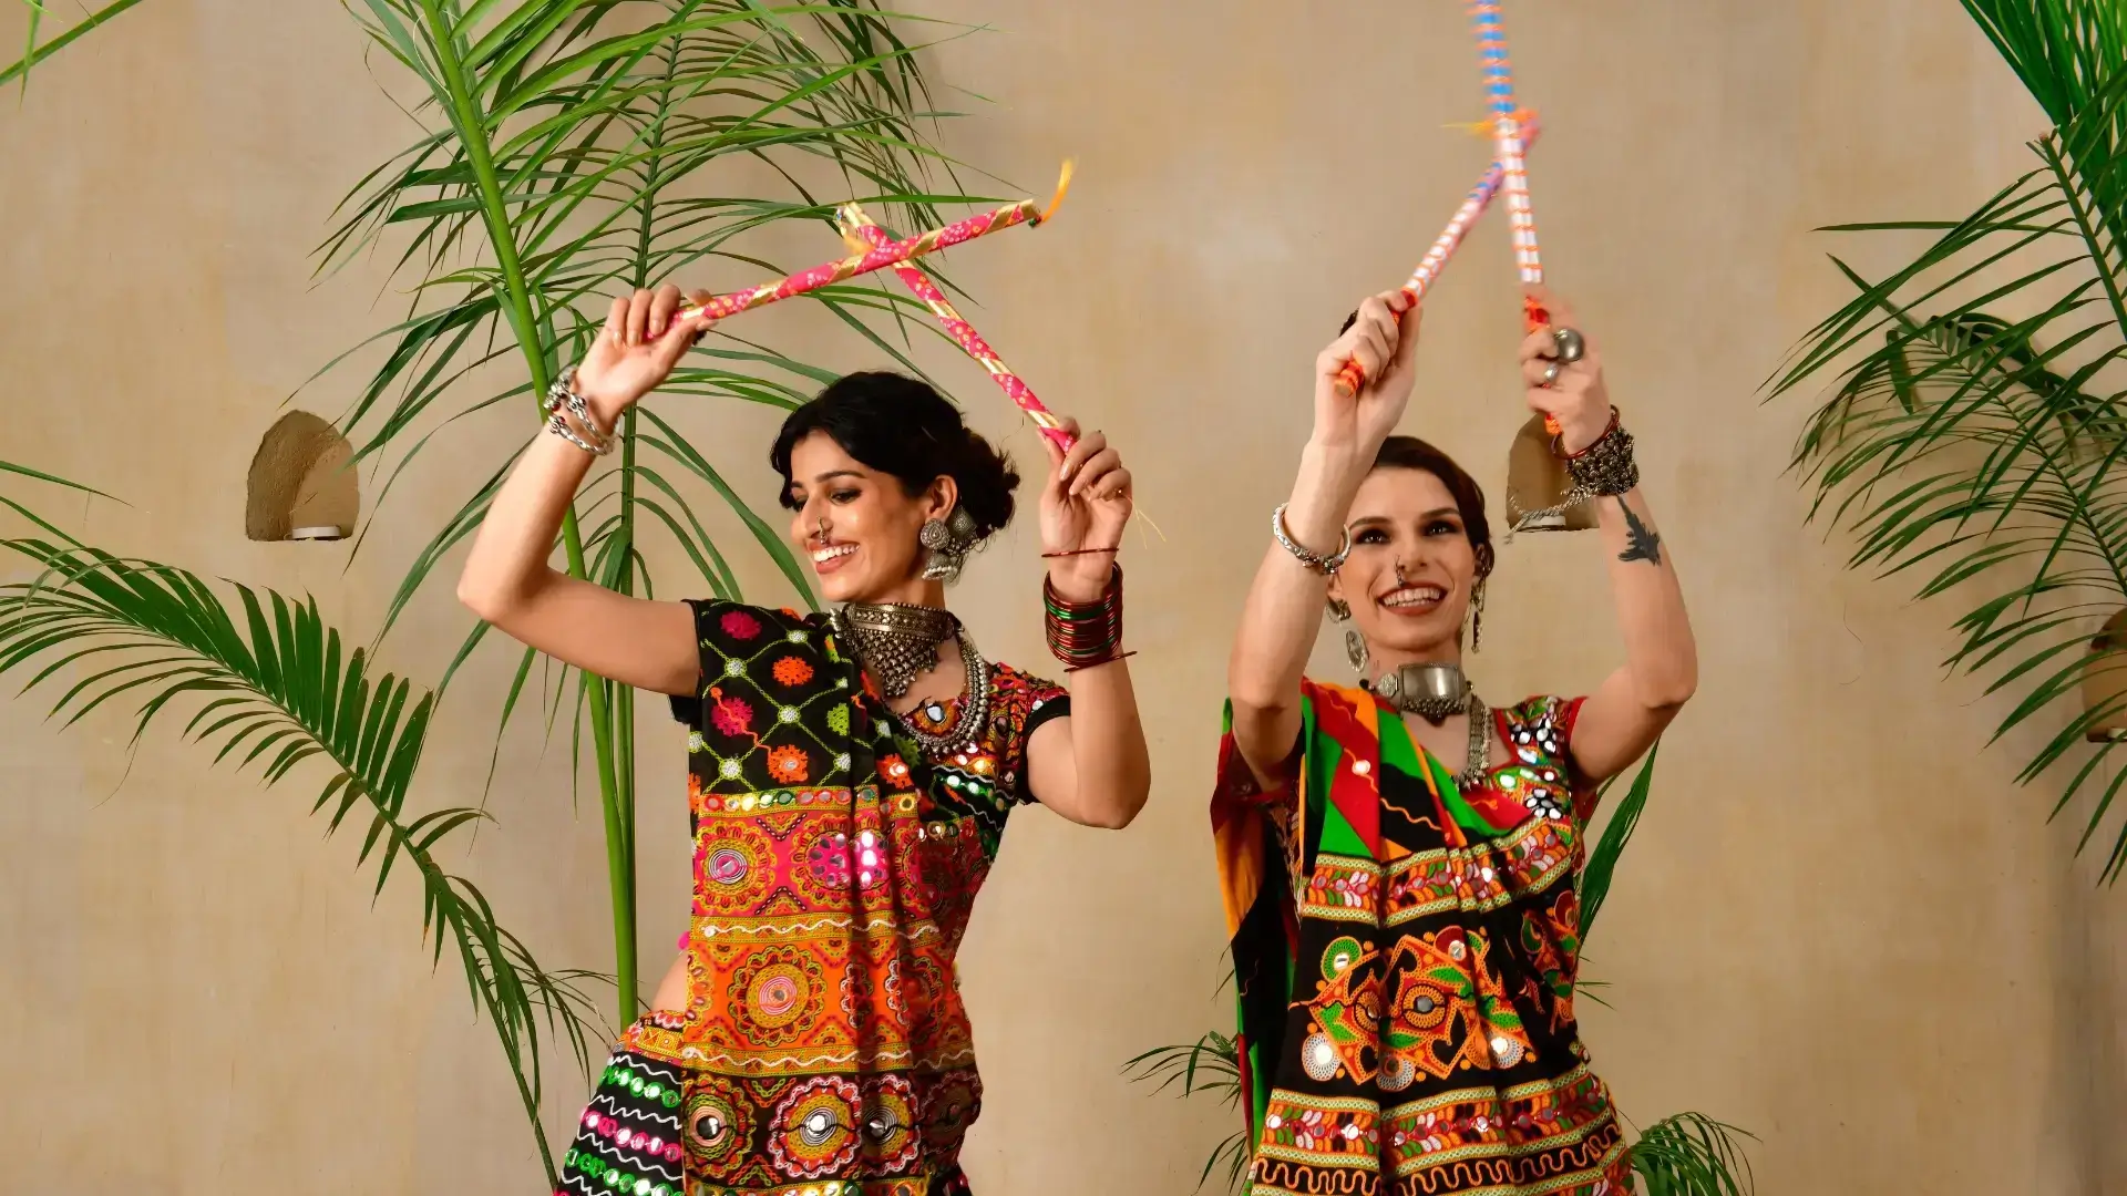
<svg viewBox="0 0 2127 1196">
<path fill-rule="evenodd" d="M 606 328 L 576 368 L 576 394 L 593 428 L 613 432 L 638 398 L 661 383 L 706 330 L 700 319 L 674 319 L 679 287 L 613 300 Z M 457 600 L 510 638 L 621 681 L 661 694 L 693 694 L 698 655 L 693 615 L 683 602 L 647 602 L 553 568 L 555 536 L 591 453 L 557 434 L 532 438 L 481 519 Z"/>
</svg>

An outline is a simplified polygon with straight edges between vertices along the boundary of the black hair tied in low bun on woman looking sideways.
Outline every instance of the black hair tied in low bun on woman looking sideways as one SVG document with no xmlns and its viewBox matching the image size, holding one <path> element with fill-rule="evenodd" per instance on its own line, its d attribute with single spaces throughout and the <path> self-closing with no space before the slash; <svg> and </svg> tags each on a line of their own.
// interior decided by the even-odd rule
<svg viewBox="0 0 2127 1196">
<path fill-rule="evenodd" d="M 1012 492 L 1019 489 L 1012 458 L 991 449 L 959 409 L 921 379 L 887 370 L 844 375 L 791 411 L 768 451 L 768 464 L 783 475 L 785 504 L 791 449 L 813 432 L 834 436 L 844 453 L 893 475 L 908 494 L 923 494 L 940 475 L 951 477 L 978 536 L 1012 521 Z"/>
</svg>

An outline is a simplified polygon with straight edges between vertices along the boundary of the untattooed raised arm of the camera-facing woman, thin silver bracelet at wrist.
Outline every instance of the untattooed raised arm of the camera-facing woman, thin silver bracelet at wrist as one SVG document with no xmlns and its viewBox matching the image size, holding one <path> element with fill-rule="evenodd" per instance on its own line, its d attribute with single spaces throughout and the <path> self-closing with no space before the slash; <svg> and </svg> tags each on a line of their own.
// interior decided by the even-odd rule
<svg viewBox="0 0 2127 1196">
<path fill-rule="evenodd" d="M 1302 551 L 1314 558 L 1342 551 L 1351 498 L 1410 400 L 1417 345 L 1419 311 L 1404 292 L 1383 292 L 1359 304 L 1357 321 L 1314 358 L 1314 432 L 1300 451 L 1300 477 L 1285 504 L 1285 534 Z M 1346 360 L 1357 360 L 1368 377 L 1353 398 L 1336 389 Z M 1272 538 L 1227 660 L 1234 743 L 1266 783 L 1300 738 L 1300 675 L 1327 594 L 1329 575 Z"/>
</svg>

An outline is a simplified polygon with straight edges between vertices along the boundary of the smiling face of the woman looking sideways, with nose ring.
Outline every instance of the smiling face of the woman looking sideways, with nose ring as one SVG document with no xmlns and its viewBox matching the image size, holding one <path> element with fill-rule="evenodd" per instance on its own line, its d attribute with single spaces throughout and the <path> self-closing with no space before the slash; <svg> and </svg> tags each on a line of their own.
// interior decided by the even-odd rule
<svg viewBox="0 0 2127 1196">
<path fill-rule="evenodd" d="M 834 436 L 813 432 L 791 447 L 791 483 L 783 504 L 791 543 L 813 562 L 827 602 L 917 602 L 923 583 L 925 519 L 953 509 L 953 479 L 940 477 L 910 496 L 902 481 L 851 458 Z"/>
</svg>

